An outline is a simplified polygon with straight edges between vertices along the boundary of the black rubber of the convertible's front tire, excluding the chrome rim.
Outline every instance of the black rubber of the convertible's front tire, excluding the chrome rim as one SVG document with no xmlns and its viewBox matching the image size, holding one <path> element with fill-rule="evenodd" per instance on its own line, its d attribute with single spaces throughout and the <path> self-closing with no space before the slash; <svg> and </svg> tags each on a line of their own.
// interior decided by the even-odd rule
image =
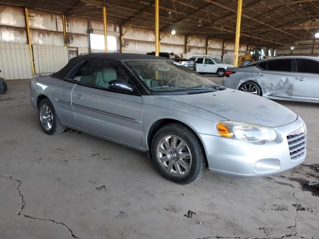
<svg viewBox="0 0 319 239">
<path fill-rule="evenodd" d="M 176 135 L 182 139 L 189 148 L 191 154 L 191 164 L 189 171 L 182 176 L 172 176 L 162 168 L 158 159 L 157 146 L 162 137 L 165 135 Z M 177 148 L 177 147 L 176 147 Z M 189 184 L 194 180 L 200 178 L 207 170 L 207 161 L 204 153 L 203 146 L 196 136 L 196 134 L 187 126 L 180 123 L 169 123 L 161 127 L 152 139 L 152 159 L 164 178 L 178 183 Z"/>
</svg>

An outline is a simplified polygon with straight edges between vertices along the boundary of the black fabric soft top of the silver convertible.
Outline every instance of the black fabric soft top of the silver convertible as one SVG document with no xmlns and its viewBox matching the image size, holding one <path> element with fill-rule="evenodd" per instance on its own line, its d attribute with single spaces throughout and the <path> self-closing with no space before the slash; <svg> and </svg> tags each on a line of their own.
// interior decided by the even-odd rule
<svg viewBox="0 0 319 239">
<path fill-rule="evenodd" d="M 107 61 L 122 61 L 122 60 L 166 60 L 165 57 L 152 56 L 152 55 L 144 55 L 144 54 L 135 54 L 135 53 L 90 53 L 79 55 L 77 57 L 72 58 L 65 67 L 63 67 L 58 72 L 53 75 L 57 78 L 63 79 L 79 62 L 87 59 L 101 59 Z"/>
</svg>

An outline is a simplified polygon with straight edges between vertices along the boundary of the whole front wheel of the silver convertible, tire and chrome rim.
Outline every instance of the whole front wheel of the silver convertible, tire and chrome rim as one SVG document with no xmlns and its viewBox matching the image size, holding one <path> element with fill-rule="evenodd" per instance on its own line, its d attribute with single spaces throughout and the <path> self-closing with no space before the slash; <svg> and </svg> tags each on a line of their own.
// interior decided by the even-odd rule
<svg viewBox="0 0 319 239">
<path fill-rule="evenodd" d="M 157 169 L 172 182 L 191 183 L 207 169 L 200 140 L 183 124 L 170 123 L 161 127 L 155 133 L 151 147 Z"/>
</svg>

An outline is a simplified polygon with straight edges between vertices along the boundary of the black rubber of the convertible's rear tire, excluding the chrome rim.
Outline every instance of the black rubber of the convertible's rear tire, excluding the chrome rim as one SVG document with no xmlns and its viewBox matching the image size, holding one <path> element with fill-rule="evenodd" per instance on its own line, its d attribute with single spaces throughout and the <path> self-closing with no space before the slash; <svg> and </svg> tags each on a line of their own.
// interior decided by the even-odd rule
<svg viewBox="0 0 319 239">
<path fill-rule="evenodd" d="M 43 105 L 46 105 L 51 113 L 52 113 L 52 117 L 53 117 L 53 121 L 52 121 L 52 127 L 50 129 L 46 129 L 44 128 L 44 126 L 42 125 L 41 119 L 40 119 L 40 110 L 42 108 Z M 58 119 L 58 117 L 56 116 L 54 107 L 52 105 L 52 103 L 49 101 L 49 99 L 43 99 L 42 101 L 40 101 L 39 103 L 39 107 L 38 107 L 38 119 L 41 125 L 41 128 L 43 129 L 43 131 L 46 134 L 49 135 L 53 135 L 53 134 L 60 134 L 63 133 L 65 130 L 65 127 L 60 123 L 60 120 Z"/>
</svg>

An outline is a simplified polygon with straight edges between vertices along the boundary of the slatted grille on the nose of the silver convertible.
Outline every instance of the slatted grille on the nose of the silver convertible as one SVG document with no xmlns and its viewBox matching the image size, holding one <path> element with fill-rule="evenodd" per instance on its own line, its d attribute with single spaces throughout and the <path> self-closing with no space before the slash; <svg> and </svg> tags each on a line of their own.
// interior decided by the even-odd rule
<svg viewBox="0 0 319 239">
<path fill-rule="evenodd" d="M 290 158 L 298 160 L 306 153 L 306 133 L 303 128 L 300 128 L 291 134 L 287 135 Z"/>
</svg>

